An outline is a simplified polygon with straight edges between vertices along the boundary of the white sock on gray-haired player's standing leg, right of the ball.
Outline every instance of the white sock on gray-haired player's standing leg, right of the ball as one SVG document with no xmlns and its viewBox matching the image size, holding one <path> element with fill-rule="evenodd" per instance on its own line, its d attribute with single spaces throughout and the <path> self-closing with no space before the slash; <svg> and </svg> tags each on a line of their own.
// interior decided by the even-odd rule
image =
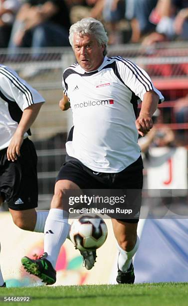
<svg viewBox="0 0 188 306">
<path fill-rule="evenodd" d="M 137 241 L 135 243 L 135 246 L 129 252 L 122 249 L 118 244 L 118 250 L 119 250 L 118 267 L 121 271 L 126 272 L 128 268 L 130 267 L 132 258 L 139 247 L 139 243 L 140 243 L 140 239 L 139 239 L 139 236 L 137 236 Z"/>
</svg>

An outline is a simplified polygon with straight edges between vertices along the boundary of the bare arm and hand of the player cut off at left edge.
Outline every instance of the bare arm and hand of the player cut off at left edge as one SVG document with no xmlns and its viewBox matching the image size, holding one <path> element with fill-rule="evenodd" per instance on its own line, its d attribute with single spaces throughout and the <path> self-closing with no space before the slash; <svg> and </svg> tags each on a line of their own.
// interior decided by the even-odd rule
<svg viewBox="0 0 188 306">
<path fill-rule="evenodd" d="M 43 102 L 35 103 L 23 110 L 16 131 L 7 147 L 6 155 L 8 160 L 14 161 L 17 159 L 17 156 L 20 155 L 20 147 L 23 142 L 24 133 L 30 128 L 36 119 L 42 104 Z"/>
</svg>

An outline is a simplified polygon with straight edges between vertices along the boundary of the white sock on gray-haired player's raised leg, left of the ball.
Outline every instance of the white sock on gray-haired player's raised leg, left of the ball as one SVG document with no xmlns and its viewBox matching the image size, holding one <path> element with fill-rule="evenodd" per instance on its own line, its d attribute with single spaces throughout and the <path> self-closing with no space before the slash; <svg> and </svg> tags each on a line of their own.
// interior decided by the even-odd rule
<svg viewBox="0 0 188 306">
<path fill-rule="evenodd" d="M 55 268 L 61 245 L 65 241 L 70 225 L 69 213 L 63 209 L 51 208 L 44 227 L 44 252 L 48 253 L 47 259 Z"/>
</svg>

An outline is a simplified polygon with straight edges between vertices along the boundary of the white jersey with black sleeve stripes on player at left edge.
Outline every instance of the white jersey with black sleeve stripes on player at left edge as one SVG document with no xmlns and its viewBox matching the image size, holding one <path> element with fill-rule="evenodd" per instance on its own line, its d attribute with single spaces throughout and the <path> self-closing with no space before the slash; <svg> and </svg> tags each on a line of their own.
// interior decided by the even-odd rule
<svg viewBox="0 0 188 306">
<path fill-rule="evenodd" d="M 18 126 L 22 111 L 44 98 L 15 71 L 0 65 L 0 150 L 7 147 Z M 26 138 L 30 134 L 24 134 Z"/>
</svg>

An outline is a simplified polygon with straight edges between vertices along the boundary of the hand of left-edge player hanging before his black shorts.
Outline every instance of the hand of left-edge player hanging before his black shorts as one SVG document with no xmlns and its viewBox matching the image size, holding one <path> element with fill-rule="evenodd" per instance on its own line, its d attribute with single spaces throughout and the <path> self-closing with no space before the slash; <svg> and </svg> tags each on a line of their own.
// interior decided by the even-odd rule
<svg viewBox="0 0 188 306">
<path fill-rule="evenodd" d="M 23 135 L 16 130 L 6 151 L 8 160 L 14 161 L 20 155 L 20 147 L 23 142 Z"/>
</svg>

